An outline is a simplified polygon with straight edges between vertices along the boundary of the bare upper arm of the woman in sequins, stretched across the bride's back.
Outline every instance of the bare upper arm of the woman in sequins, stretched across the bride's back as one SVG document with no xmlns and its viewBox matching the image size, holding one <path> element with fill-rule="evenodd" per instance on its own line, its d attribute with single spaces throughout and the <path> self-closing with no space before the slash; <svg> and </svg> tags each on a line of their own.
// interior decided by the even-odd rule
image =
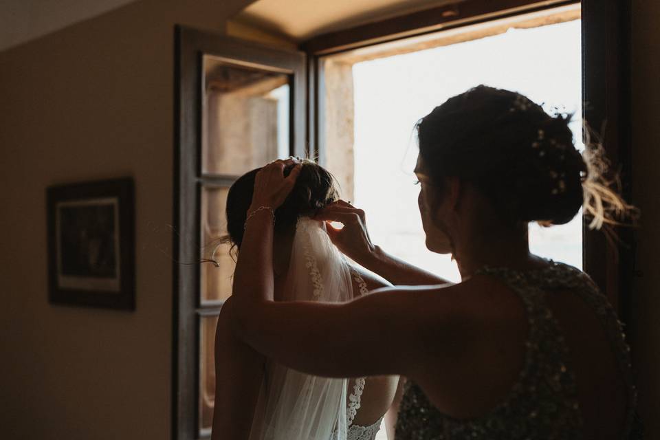
<svg viewBox="0 0 660 440">
<path fill-rule="evenodd" d="M 464 339 L 458 320 L 452 325 L 453 317 L 438 310 L 434 297 L 442 294 L 428 289 L 379 289 L 340 304 L 247 301 L 243 293 L 224 306 L 232 307 L 239 338 L 312 375 L 415 379 L 430 364 L 440 371 Z"/>
</svg>

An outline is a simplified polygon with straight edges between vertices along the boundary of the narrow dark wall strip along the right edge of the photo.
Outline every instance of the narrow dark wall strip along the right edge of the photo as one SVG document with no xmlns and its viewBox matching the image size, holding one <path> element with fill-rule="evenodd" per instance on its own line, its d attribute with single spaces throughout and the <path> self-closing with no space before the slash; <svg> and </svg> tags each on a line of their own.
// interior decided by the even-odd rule
<svg viewBox="0 0 660 440">
<path fill-rule="evenodd" d="M 636 232 L 637 270 L 632 289 L 630 342 L 637 370 L 646 438 L 660 438 L 660 3 L 632 2 L 632 180 L 641 208 Z"/>
</svg>

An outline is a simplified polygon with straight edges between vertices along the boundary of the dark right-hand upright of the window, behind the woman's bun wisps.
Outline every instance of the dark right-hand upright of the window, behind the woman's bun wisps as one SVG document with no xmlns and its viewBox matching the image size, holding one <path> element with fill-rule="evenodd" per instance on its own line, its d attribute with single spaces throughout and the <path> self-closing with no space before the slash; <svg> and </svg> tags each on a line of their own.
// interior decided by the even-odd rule
<svg viewBox="0 0 660 440">
<path fill-rule="evenodd" d="M 621 171 L 622 194 L 632 202 L 629 1 L 582 0 L 582 78 L 584 120 L 604 138 L 609 159 Z M 617 228 L 619 243 L 610 243 L 586 225 L 584 271 L 628 322 L 635 274 L 632 230 Z"/>
</svg>

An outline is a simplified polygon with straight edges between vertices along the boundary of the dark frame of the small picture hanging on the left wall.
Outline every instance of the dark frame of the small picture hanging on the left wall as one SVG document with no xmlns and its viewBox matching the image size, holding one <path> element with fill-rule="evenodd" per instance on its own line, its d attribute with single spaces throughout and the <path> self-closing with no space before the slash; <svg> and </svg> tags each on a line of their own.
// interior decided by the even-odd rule
<svg viewBox="0 0 660 440">
<path fill-rule="evenodd" d="M 110 179 L 54 185 L 46 189 L 48 236 L 48 300 L 54 305 L 135 309 L 135 189 L 133 179 Z M 59 287 L 57 274 L 57 204 L 99 197 L 118 199 L 120 292 Z"/>
</svg>

